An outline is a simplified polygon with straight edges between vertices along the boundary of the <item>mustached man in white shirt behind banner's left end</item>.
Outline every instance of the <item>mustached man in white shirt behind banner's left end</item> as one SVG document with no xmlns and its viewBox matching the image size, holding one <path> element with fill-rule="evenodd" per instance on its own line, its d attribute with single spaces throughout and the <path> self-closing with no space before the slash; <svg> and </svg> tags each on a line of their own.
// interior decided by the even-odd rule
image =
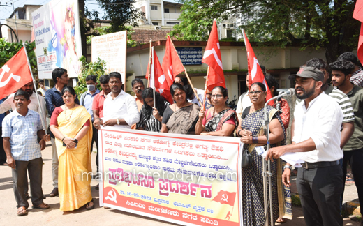
<svg viewBox="0 0 363 226">
<path fill-rule="evenodd" d="M 101 125 L 131 128 L 131 125 L 137 123 L 140 119 L 135 99 L 121 90 L 122 80 L 120 73 L 112 72 L 109 77 L 108 84 L 111 93 L 108 93 L 103 103 Z"/>
</svg>

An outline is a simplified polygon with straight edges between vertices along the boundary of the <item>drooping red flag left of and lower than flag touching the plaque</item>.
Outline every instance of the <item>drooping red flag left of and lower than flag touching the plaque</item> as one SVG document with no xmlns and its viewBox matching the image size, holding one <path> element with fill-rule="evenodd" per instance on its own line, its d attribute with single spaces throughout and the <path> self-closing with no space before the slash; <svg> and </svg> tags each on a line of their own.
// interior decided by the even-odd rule
<svg viewBox="0 0 363 226">
<path fill-rule="evenodd" d="M 172 95 L 170 94 L 170 86 L 172 85 L 172 82 L 170 83 L 166 80 L 163 68 L 161 68 L 160 61 L 158 60 L 154 47 L 152 51 L 154 52 L 154 59 L 151 60 L 151 70 L 154 70 L 154 73 L 151 71 L 150 87 L 155 88 L 156 91 L 165 98 L 165 100 L 172 104 Z"/>
</svg>

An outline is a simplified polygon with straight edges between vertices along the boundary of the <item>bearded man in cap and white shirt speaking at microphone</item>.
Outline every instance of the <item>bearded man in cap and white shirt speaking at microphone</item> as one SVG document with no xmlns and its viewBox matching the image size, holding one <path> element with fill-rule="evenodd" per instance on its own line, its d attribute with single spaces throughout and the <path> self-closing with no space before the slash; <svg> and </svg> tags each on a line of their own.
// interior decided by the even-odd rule
<svg viewBox="0 0 363 226">
<path fill-rule="evenodd" d="M 343 225 L 340 196 L 343 172 L 339 159 L 343 112 L 336 100 L 321 90 L 324 75 L 318 68 L 305 67 L 295 80 L 296 96 L 303 99 L 295 107 L 292 144 L 269 149 L 266 159 L 277 159 L 288 152 L 304 152 L 305 161 L 297 172 L 297 191 L 306 225 Z M 283 183 L 290 186 L 290 164 L 285 166 Z"/>
</svg>

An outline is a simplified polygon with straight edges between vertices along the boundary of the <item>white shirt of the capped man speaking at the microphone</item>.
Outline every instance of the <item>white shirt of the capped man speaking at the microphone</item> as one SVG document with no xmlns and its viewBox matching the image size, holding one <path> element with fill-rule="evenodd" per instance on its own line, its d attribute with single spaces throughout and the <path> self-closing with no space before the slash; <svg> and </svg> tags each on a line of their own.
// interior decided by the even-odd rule
<svg viewBox="0 0 363 226">
<path fill-rule="evenodd" d="M 313 139 L 316 150 L 305 153 L 302 160 L 308 163 L 334 161 L 343 158 L 341 143 L 341 122 L 343 112 L 334 98 L 320 93 L 305 108 L 305 101 L 295 107 L 295 130 L 293 142 Z"/>
</svg>

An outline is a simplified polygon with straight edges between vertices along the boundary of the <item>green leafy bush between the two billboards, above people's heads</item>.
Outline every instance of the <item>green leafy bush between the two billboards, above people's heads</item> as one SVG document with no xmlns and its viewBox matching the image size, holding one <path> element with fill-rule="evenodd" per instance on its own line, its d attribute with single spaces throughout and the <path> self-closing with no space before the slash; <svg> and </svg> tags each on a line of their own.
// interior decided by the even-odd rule
<svg viewBox="0 0 363 226">
<path fill-rule="evenodd" d="M 80 62 L 82 63 L 81 73 L 78 75 L 77 86 L 75 86 L 75 92 L 77 95 L 80 96 L 82 93 L 87 91 L 86 77 L 88 75 L 96 75 L 97 88 L 101 90 L 98 78 L 101 75 L 105 75 L 106 62 L 98 58 L 96 62 L 87 63 L 86 57 L 84 56 L 80 57 Z"/>
</svg>

